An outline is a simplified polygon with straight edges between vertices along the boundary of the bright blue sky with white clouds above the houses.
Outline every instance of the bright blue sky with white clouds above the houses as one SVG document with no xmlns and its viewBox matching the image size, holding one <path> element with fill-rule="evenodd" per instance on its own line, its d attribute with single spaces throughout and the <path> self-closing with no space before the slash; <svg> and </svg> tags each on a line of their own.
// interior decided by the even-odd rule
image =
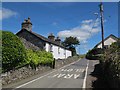
<svg viewBox="0 0 120 90">
<path fill-rule="evenodd" d="M 74 36 L 80 41 L 77 53 L 84 54 L 101 41 L 99 2 L 3 2 L 2 30 L 16 34 L 28 17 L 32 31 L 47 37 L 53 33 L 62 40 Z M 103 2 L 104 37 L 118 37 L 118 3 Z"/>
</svg>

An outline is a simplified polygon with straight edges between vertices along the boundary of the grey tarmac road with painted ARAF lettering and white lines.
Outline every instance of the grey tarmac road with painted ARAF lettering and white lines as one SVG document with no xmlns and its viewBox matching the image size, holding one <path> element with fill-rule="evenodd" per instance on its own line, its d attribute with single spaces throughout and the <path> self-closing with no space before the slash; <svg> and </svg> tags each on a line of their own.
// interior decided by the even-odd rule
<svg viewBox="0 0 120 90">
<path fill-rule="evenodd" d="M 60 69 L 54 69 L 32 80 L 4 88 L 89 88 L 89 74 L 98 61 L 80 59 Z M 86 83 L 87 82 L 87 83 Z"/>
</svg>

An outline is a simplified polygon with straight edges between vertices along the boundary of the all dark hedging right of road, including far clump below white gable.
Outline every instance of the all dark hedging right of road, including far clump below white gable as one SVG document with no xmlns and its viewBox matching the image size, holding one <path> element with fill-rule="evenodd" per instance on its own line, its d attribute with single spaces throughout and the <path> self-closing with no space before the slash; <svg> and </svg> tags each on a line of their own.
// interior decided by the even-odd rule
<svg viewBox="0 0 120 90">
<path fill-rule="evenodd" d="M 108 88 L 120 88 L 120 39 L 109 48 L 94 48 L 86 54 L 87 59 L 99 60 L 103 82 Z"/>
</svg>

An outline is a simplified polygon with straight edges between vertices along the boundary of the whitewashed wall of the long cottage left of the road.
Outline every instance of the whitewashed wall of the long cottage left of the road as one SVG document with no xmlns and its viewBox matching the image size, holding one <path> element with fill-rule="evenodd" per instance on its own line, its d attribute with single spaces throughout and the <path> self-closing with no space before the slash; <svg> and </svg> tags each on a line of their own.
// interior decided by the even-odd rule
<svg viewBox="0 0 120 90">
<path fill-rule="evenodd" d="M 49 52 L 49 43 L 46 43 L 46 46 L 45 46 L 45 49 L 47 52 Z M 72 53 L 71 51 L 67 50 L 67 49 L 64 49 L 62 47 L 59 47 L 59 46 L 56 46 L 56 45 L 52 45 L 52 52 L 53 54 L 53 57 L 55 59 L 65 59 L 69 56 L 72 56 Z"/>
</svg>

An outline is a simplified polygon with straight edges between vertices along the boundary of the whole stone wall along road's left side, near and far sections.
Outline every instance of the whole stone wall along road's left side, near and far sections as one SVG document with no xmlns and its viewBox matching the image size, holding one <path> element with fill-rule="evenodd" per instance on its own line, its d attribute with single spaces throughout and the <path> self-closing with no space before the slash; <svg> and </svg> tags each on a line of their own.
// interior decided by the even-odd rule
<svg viewBox="0 0 120 90">
<path fill-rule="evenodd" d="M 58 68 L 60 68 L 64 65 L 67 65 L 69 63 L 72 63 L 78 59 L 79 59 L 79 57 L 75 56 L 75 57 L 69 57 L 69 58 L 64 59 L 64 60 L 63 59 L 55 60 L 55 69 L 58 69 Z M 11 70 L 9 72 L 1 74 L 2 85 L 8 85 L 11 83 L 19 82 L 20 80 L 32 77 L 32 76 L 37 75 L 37 74 L 44 73 L 44 72 L 49 71 L 49 70 L 52 70 L 52 68 L 50 66 L 42 66 L 42 65 L 39 65 L 36 70 L 32 69 L 29 66 L 22 67 L 22 68 L 19 68 L 17 70 Z"/>
</svg>

